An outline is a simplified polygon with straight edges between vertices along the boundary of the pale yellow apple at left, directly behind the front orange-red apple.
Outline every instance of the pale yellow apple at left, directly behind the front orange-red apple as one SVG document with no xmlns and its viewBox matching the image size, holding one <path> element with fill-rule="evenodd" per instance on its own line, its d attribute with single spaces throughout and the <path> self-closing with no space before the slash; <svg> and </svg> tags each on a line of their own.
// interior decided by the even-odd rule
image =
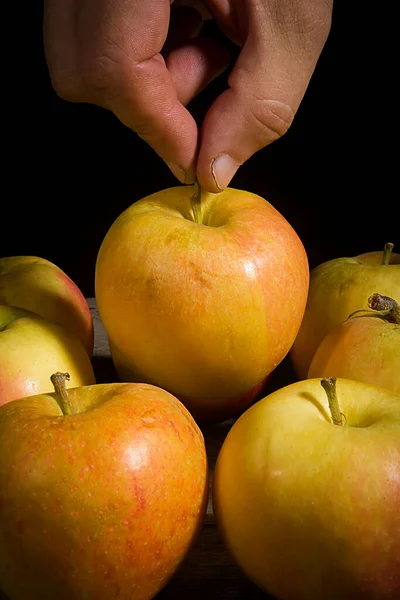
<svg viewBox="0 0 400 600">
<path fill-rule="evenodd" d="M 70 387 L 95 383 L 80 341 L 61 325 L 13 306 L 0 305 L 0 406 L 51 392 L 56 370 L 70 374 Z"/>
</svg>

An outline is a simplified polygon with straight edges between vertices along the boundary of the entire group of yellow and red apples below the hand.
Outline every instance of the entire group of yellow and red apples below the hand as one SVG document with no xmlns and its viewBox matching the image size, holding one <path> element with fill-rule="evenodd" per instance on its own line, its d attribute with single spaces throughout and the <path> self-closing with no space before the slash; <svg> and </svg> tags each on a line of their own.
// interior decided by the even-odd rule
<svg viewBox="0 0 400 600">
<path fill-rule="evenodd" d="M 150 600 L 196 541 L 202 427 L 221 537 L 278 600 L 400 598 L 400 255 L 310 273 L 265 199 L 197 185 L 134 203 L 95 292 L 119 381 L 96 384 L 86 300 L 0 260 L 0 589 Z M 298 381 L 268 392 L 290 357 Z"/>
</svg>

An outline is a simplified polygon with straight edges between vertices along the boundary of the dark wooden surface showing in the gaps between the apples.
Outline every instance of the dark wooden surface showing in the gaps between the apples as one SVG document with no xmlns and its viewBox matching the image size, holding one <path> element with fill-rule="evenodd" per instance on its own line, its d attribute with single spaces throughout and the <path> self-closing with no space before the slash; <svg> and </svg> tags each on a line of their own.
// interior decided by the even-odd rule
<svg viewBox="0 0 400 600">
<path fill-rule="evenodd" d="M 107 335 L 101 324 L 94 298 L 88 303 L 92 311 L 95 328 L 93 367 L 98 383 L 118 381 L 113 368 Z M 294 380 L 288 359 L 273 373 L 265 393 L 269 393 Z M 218 451 L 233 421 L 203 427 L 210 469 L 210 481 Z M 251 506 L 249 506 L 251 511 Z M 224 548 L 215 524 L 211 497 L 208 502 L 204 527 L 197 543 L 187 555 L 179 571 L 157 600 L 274 600 L 261 592 L 236 566 Z M 0 591 L 0 600 L 7 599 Z M 11 599 L 13 600 L 13 599 Z M 56 600 L 46 598 L 43 600 Z M 99 600 L 103 600 L 99 598 Z M 107 599 L 108 600 L 108 599 Z"/>
</svg>

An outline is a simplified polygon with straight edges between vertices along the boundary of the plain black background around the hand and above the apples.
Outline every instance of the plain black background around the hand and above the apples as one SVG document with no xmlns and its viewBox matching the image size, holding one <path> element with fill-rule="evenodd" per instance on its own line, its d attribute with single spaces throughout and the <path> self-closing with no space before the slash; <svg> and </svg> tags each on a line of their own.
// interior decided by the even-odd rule
<svg viewBox="0 0 400 600">
<path fill-rule="evenodd" d="M 110 113 L 51 88 L 42 2 L 14 6 L 3 72 L 0 256 L 33 254 L 94 295 L 94 268 L 113 220 L 132 202 L 176 185 L 157 155 Z M 23 17 L 23 18 L 22 18 Z M 232 186 L 272 202 L 300 235 L 310 265 L 400 246 L 397 61 L 376 3 L 336 0 L 332 31 L 289 132 L 241 167 Z M 7 32 L 6 32 L 7 33 Z M 206 34 L 220 36 L 208 24 Z M 190 106 L 199 124 L 226 85 Z"/>
</svg>

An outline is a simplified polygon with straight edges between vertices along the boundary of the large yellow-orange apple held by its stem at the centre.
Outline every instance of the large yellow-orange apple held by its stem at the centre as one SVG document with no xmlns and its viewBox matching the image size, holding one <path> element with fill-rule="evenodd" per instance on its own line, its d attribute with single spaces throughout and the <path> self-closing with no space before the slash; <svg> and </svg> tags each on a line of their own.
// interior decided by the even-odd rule
<svg viewBox="0 0 400 600">
<path fill-rule="evenodd" d="M 95 293 L 117 373 L 177 396 L 196 419 L 242 412 L 288 353 L 307 255 L 266 200 L 197 185 L 161 190 L 111 225 Z"/>
</svg>

